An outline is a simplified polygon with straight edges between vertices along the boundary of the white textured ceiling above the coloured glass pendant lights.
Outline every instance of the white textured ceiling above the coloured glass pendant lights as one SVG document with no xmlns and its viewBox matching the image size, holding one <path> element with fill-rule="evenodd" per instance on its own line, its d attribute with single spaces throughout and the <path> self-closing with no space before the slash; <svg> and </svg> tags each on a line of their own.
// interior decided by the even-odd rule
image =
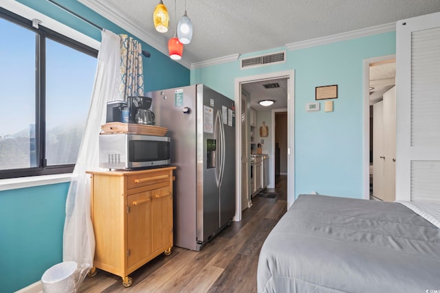
<svg viewBox="0 0 440 293">
<path fill-rule="evenodd" d="M 163 0 L 170 30 L 160 34 L 153 26 L 159 0 L 78 1 L 165 54 L 186 2 L 194 27 L 180 61 L 186 66 L 440 11 L 439 0 Z"/>
</svg>

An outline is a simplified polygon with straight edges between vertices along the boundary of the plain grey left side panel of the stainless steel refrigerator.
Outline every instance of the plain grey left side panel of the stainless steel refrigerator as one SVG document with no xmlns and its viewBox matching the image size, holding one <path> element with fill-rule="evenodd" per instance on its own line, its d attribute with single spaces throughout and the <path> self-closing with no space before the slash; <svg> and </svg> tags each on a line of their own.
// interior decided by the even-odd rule
<svg viewBox="0 0 440 293">
<path fill-rule="evenodd" d="M 174 244 L 196 250 L 196 87 L 150 94 L 155 125 L 168 128 L 165 135 L 171 138 L 171 164 L 177 167 L 173 182 Z"/>
</svg>

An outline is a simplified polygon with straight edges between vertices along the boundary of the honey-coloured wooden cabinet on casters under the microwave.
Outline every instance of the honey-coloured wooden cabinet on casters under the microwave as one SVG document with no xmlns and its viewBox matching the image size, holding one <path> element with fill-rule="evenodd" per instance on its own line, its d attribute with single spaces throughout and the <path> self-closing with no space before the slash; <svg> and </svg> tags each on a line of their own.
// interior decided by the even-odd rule
<svg viewBox="0 0 440 293">
<path fill-rule="evenodd" d="M 91 174 L 94 268 L 122 277 L 173 246 L 173 169 Z"/>
</svg>

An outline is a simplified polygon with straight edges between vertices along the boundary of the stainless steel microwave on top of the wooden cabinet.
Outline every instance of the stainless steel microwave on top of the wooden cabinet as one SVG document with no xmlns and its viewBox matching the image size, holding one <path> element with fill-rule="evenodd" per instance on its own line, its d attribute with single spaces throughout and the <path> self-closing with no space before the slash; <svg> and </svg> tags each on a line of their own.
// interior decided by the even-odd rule
<svg viewBox="0 0 440 293">
<path fill-rule="evenodd" d="M 102 168 L 130 170 L 170 163 L 170 137 L 124 133 L 99 136 Z"/>
</svg>

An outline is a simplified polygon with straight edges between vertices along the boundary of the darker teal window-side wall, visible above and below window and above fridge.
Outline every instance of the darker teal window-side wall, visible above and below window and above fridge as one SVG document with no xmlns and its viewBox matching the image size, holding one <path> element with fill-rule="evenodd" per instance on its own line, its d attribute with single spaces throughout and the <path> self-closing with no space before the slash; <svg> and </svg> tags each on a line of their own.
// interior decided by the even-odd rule
<svg viewBox="0 0 440 293">
<path fill-rule="evenodd" d="M 100 40 L 99 30 L 48 1 L 18 1 Z M 115 34 L 127 33 L 78 1 L 58 2 Z M 146 43 L 142 43 L 142 49 L 151 53 L 151 58 L 144 58 L 145 91 L 189 84 L 189 69 Z M 63 260 L 63 226 L 68 188 L 69 183 L 63 183 L 0 191 L 1 292 L 14 292 L 39 281 L 47 268 Z"/>
</svg>

